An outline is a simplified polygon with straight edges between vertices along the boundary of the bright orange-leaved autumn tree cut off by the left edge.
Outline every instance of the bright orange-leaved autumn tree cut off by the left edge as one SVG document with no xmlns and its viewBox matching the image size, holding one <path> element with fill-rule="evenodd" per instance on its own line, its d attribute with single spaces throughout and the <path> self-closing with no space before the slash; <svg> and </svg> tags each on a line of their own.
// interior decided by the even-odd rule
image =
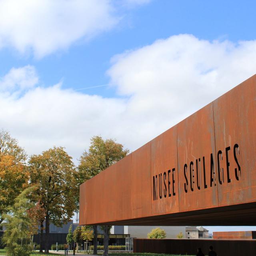
<svg viewBox="0 0 256 256">
<path fill-rule="evenodd" d="M 27 186 L 26 154 L 18 141 L 4 130 L 0 130 L 0 223 L 3 214 Z"/>
</svg>

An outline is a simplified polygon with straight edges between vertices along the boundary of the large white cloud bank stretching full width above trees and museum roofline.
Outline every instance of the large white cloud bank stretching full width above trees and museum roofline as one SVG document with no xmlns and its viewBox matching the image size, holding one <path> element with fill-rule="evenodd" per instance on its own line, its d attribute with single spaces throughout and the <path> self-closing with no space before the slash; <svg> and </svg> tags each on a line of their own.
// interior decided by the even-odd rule
<svg viewBox="0 0 256 256">
<path fill-rule="evenodd" d="M 0 123 L 28 154 L 56 145 L 76 159 L 97 134 L 135 150 L 255 72 L 256 41 L 172 36 L 113 58 L 108 74 L 123 97 L 61 84 L 32 87 L 18 98 L 2 92 Z"/>
</svg>

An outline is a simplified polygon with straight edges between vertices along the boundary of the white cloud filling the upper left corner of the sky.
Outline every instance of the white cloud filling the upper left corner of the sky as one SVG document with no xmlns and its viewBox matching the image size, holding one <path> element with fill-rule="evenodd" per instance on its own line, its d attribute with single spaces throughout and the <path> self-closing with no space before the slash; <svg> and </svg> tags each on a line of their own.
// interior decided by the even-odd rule
<svg viewBox="0 0 256 256">
<path fill-rule="evenodd" d="M 126 1 L 126 0 L 122 0 Z M 128 0 L 131 3 L 146 0 Z M 41 58 L 116 25 L 110 0 L 0 0 L 0 48 L 12 46 Z"/>
</svg>

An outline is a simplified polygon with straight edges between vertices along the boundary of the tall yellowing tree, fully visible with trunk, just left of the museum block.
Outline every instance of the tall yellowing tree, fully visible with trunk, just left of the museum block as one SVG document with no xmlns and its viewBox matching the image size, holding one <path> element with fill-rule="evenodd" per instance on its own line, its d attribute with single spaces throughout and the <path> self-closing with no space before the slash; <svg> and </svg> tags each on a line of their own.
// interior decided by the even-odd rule
<svg viewBox="0 0 256 256">
<path fill-rule="evenodd" d="M 62 226 L 78 209 L 77 175 L 71 159 L 64 148 L 54 147 L 29 160 L 30 182 L 37 187 L 33 200 L 40 200 L 45 212 L 45 253 L 49 252 L 50 222 Z"/>
</svg>

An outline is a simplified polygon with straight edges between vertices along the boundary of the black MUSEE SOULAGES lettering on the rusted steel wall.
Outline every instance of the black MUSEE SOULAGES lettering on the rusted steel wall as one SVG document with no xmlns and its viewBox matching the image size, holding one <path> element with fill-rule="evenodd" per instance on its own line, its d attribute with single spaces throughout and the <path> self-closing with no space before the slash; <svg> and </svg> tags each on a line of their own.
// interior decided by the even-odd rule
<svg viewBox="0 0 256 256">
<path fill-rule="evenodd" d="M 214 168 L 214 157 L 213 154 L 210 154 L 210 167 L 207 168 L 205 165 L 205 157 L 198 158 L 190 163 L 184 164 L 184 178 L 186 182 L 184 183 L 184 190 L 187 193 L 188 188 L 191 191 L 195 189 L 206 189 L 210 185 L 216 186 L 217 182 L 220 185 L 224 183 L 226 180 L 227 183 L 231 182 L 230 179 L 230 172 L 234 171 L 236 180 L 240 180 L 241 178 L 241 166 L 238 162 L 238 155 L 240 154 L 238 144 L 234 144 L 232 148 L 233 152 L 230 152 L 230 146 L 226 147 L 224 152 L 218 150 L 217 153 L 217 174 L 215 173 Z M 226 155 L 226 162 L 225 162 L 225 172 L 224 168 L 220 167 L 220 163 L 223 160 L 223 154 Z M 232 156 L 231 156 L 232 154 Z M 230 157 L 233 157 L 234 161 L 236 162 L 236 168 L 234 170 L 230 170 Z M 210 170 L 210 180 L 206 180 L 206 172 Z M 157 174 L 153 176 L 153 200 L 163 199 L 166 197 L 175 196 L 175 178 L 174 178 L 175 168 L 172 168 L 168 171 L 163 173 Z M 216 176 L 218 180 L 216 181 Z M 201 177 L 202 181 L 201 181 Z M 226 178 L 225 178 L 226 177 Z M 196 186 L 195 186 L 196 184 Z"/>
</svg>

